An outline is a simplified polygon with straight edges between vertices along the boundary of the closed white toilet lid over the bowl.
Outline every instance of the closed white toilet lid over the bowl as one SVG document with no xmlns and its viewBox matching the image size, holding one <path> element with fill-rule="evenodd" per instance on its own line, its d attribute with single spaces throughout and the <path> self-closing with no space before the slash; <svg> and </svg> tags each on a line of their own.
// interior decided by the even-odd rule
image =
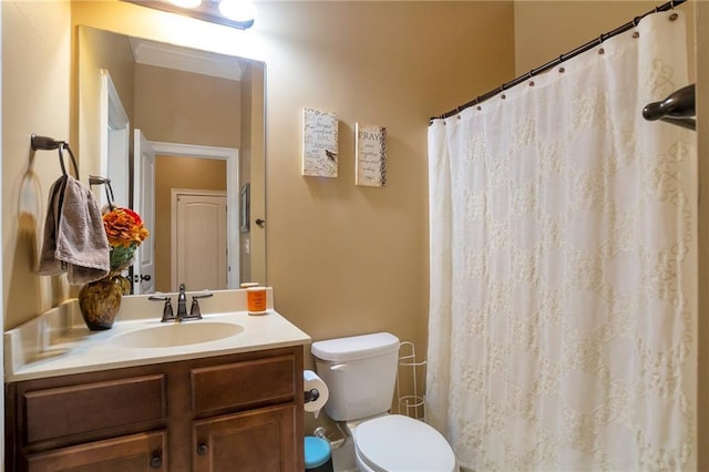
<svg viewBox="0 0 709 472">
<path fill-rule="evenodd" d="M 450 472 L 455 466 L 445 438 L 423 421 L 388 414 L 364 421 L 354 441 L 360 458 L 376 471 Z"/>
</svg>

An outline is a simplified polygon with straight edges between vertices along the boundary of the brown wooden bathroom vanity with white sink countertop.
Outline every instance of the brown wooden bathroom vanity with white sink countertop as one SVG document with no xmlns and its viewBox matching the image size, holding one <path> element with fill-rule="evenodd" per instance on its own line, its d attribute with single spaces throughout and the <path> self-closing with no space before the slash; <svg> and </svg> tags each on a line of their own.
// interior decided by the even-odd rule
<svg viewBox="0 0 709 472">
<path fill-rule="evenodd" d="M 226 291 L 240 307 L 243 290 Z M 6 470 L 304 470 L 310 338 L 273 308 L 179 325 L 125 316 L 100 332 L 75 325 L 74 310 L 6 334 Z M 204 340 L 212 325 L 228 336 Z"/>
</svg>

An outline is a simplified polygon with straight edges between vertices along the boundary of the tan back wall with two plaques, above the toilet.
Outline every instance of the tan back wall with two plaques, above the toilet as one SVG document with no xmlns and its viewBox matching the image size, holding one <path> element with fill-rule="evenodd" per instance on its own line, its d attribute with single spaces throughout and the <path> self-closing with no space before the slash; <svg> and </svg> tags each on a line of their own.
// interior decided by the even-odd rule
<svg viewBox="0 0 709 472">
<path fill-rule="evenodd" d="M 315 340 L 388 330 L 425 356 L 428 119 L 513 75 L 512 10 L 510 2 L 259 6 L 278 52 L 267 61 L 268 280 L 278 310 Z M 337 178 L 300 175 L 304 106 L 339 114 Z M 387 126 L 384 188 L 354 185 L 356 122 Z"/>
</svg>

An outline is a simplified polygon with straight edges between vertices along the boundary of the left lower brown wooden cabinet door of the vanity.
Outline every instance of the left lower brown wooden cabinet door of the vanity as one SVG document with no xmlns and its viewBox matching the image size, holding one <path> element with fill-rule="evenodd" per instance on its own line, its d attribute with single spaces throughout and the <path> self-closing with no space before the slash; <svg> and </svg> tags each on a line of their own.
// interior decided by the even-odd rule
<svg viewBox="0 0 709 472">
<path fill-rule="evenodd" d="M 28 458 L 28 471 L 167 471 L 166 437 L 157 431 L 41 452 Z"/>
</svg>

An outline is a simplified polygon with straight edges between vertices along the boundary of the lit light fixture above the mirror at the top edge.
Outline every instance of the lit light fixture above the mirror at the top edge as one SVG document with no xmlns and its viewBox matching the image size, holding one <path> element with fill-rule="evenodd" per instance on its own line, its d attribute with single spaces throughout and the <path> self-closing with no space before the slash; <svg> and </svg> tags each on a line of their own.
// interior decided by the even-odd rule
<svg viewBox="0 0 709 472">
<path fill-rule="evenodd" d="M 123 0 L 143 7 L 186 14 L 239 30 L 254 25 L 256 7 L 249 0 Z"/>
</svg>

